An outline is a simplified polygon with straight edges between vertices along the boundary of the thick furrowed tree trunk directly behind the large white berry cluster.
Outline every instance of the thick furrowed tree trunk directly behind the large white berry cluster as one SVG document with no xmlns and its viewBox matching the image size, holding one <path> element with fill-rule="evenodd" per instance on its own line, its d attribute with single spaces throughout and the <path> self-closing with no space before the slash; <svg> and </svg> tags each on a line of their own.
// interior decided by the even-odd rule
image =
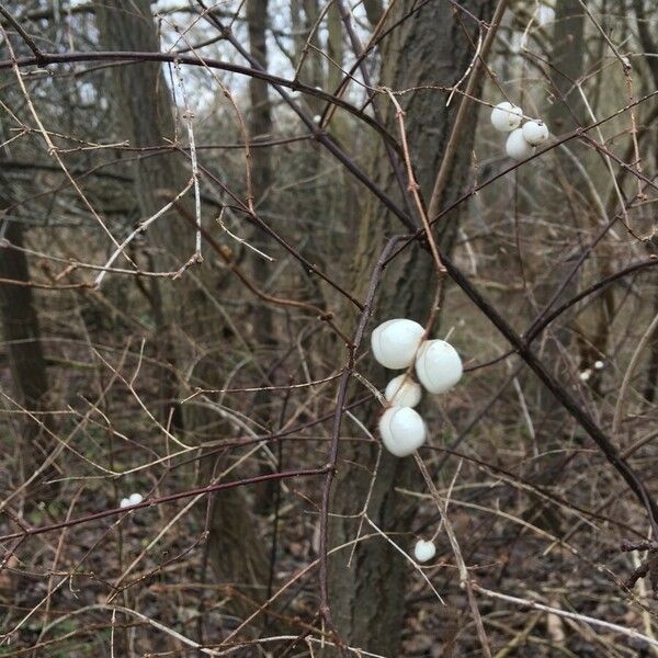
<svg viewBox="0 0 658 658">
<path fill-rule="evenodd" d="M 469 0 L 463 4 L 483 20 L 491 18 L 492 2 Z M 390 23 L 409 7 L 407 2 L 400 3 L 389 18 Z M 468 41 L 454 21 L 453 12 L 441 4 L 429 4 L 384 42 L 381 84 L 393 89 L 450 84 L 458 79 L 470 57 Z M 418 182 L 427 197 L 432 191 L 456 109 L 453 105 L 446 110 L 443 98 L 431 91 L 406 94 L 400 102 L 406 111 L 407 135 Z M 390 106 L 386 112 L 387 124 L 395 133 Z M 456 198 L 466 183 L 476 118 L 474 105 L 464 126 L 460 154 L 446 181 L 443 194 L 446 204 Z M 373 177 L 395 195 L 397 185 L 384 148 L 373 146 L 368 152 Z M 454 242 L 456 224 L 457 213 L 452 213 L 439 229 L 441 246 L 446 251 Z M 358 297 L 363 298 L 378 254 L 387 237 L 395 232 L 401 232 L 399 225 L 383 214 L 381 206 L 373 202 L 363 208 L 352 271 L 352 291 Z M 390 317 L 409 317 L 423 322 L 429 316 L 435 285 L 436 275 L 429 254 L 418 248 L 407 250 L 386 272 L 371 328 Z M 367 374 L 378 384 L 385 381 L 381 368 Z M 375 426 L 377 410 L 373 408 L 365 416 L 366 424 Z M 356 537 L 359 521 L 348 517 L 362 510 L 376 452 L 375 446 L 365 442 L 341 443 L 331 506 L 331 512 L 336 514 L 330 527 L 333 546 Z M 396 494 L 395 487 L 408 486 L 412 476 L 418 479 L 411 458 L 397 460 L 388 453 L 382 455 L 367 513 L 384 531 L 410 530 L 416 506 Z M 367 532 L 370 530 L 366 527 Z M 409 546 L 402 542 L 402 548 L 409 549 Z M 382 538 L 360 543 L 351 568 L 347 567 L 348 554 L 349 551 L 339 552 L 330 561 L 331 610 L 343 639 L 368 651 L 400 656 L 408 564 Z"/>
</svg>

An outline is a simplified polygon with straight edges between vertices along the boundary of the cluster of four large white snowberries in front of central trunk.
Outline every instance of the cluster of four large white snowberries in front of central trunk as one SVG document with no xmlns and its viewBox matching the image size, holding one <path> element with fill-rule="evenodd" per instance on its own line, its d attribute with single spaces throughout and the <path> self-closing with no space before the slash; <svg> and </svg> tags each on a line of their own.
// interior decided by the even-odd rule
<svg viewBox="0 0 658 658">
<path fill-rule="evenodd" d="M 427 438 L 424 420 L 413 409 L 420 401 L 422 386 L 429 393 L 445 393 L 461 378 L 462 360 L 444 340 L 423 340 L 424 329 L 418 322 L 396 318 L 379 325 L 372 333 L 373 355 L 385 367 L 407 370 L 416 362 L 416 375 L 394 377 L 386 386 L 389 406 L 379 419 L 379 434 L 388 452 L 406 457 L 418 450 Z"/>
</svg>

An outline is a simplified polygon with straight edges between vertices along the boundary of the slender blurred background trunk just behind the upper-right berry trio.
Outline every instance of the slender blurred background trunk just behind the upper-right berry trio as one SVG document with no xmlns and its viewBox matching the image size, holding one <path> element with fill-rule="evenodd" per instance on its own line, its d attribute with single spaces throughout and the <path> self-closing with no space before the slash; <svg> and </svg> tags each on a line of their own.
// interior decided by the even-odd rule
<svg viewBox="0 0 658 658">
<path fill-rule="evenodd" d="M 555 8 L 555 22 L 553 38 L 551 43 L 551 82 L 553 87 L 553 104 L 547 109 L 546 121 L 551 132 L 560 135 L 582 125 L 586 120 L 583 104 L 575 81 L 583 71 L 585 48 L 582 47 L 585 35 L 585 12 L 579 0 L 564 0 L 557 2 Z M 518 172 L 519 190 L 536 189 L 536 194 L 543 193 L 542 204 L 546 209 L 549 222 L 559 224 L 565 213 L 574 220 L 582 220 L 590 224 L 592 220 L 591 206 L 582 204 L 581 190 L 582 173 L 576 168 L 574 158 L 569 157 L 566 149 L 571 150 L 581 162 L 588 161 L 587 149 L 570 143 L 565 148 L 552 151 L 547 166 L 554 170 L 551 172 L 551 186 L 545 184 L 540 188 L 536 181 L 536 172 L 533 168 L 524 168 Z M 585 188 L 587 189 L 587 188 Z M 520 216 L 527 215 L 531 209 L 527 206 L 530 197 L 519 201 L 518 212 Z M 542 230 L 537 227 L 537 230 Z M 556 230 L 560 230 L 559 226 Z M 565 238 L 566 239 L 566 238 Z M 574 252 L 569 259 L 565 258 L 564 250 L 555 249 L 546 253 L 543 259 L 527 259 L 524 266 L 527 268 L 529 296 L 532 299 L 531 317 L 544 308 L 545 304 L 553 297 L 555 291 L 568 275 L 578 258 Z M 574 276 L 564 290 L 559 300 L 568 299 L 578 292 L 580 272 Z M 567 349 L 574 338 L 572 328 L 556 322 L 547 330 L 546 340 L 543 343 L 542 355 L 544 362 L 553 364 L 553 373 L 556 376 L 571 366 Z M 531 407 L 533 428 L 535 431 L 535 445 L 542 445 L 542 450 L 548 452 L 551 447 L 561 445 L 561 435 L 566 419 L 565 410 L 555 405 L 553 395 L 531 373 L 522 376 L 523 394 L 533 401 Z M 535 447 L 536 450 L 536 447 Z M 534 477 L 537 483 L 548 484 L 559 478 L 564 457 L 549 453 L 548 456 L 533 462 Z M 531 501 L 524 511 L 524 519 L 532 520 L 540 527 L 551 532 L 559 532 L 561 514 L 555 509 L 546 506 L 543 501 Z"/>
</svg>

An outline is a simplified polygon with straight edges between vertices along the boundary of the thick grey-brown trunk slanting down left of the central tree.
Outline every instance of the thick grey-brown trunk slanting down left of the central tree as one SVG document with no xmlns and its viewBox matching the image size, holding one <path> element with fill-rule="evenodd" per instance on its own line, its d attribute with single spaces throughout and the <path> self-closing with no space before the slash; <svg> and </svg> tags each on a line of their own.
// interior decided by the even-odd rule
<svg viewBox="0 0 658 658">
<path fill-rule="evenodd" d="M 132 0 L 129 11 L 99 0 L 94 3 L 98 26 L 103 47 L 118 50 L 158 50 L 158 36 L 150 13 L 148 0 Z M 158 64 L 131 64 L 112 68 L 117 120 L 124 136 L 134 146 L 161 146 L 175 137 L 172 104 L 161 67 Z M 178 193 L 188 182 L 189 164 L 180 154 L 145 158 L 136 167 L 135 191 L 145 217 L 155 213 L 163 203 Z M 171 268 L 185 262 L 194 251 L 194 231 L 178 216 L 170 213 L 162 216 L 149 230 L 156 248 L 156 263 Z M 207 263 L 196 274 L 203 279 L 208 291 L 214 291 L 217 275 Z M 185 332 L 190 341 L 180 337 L 177 340 L 175 356 L 181 362 L 181 371 L 186 372 L 184 362 L 189 355 L 180 348 L 193 343 L 203 353 L 215 353 L 223 349 L 226 340 L 222 322 L 206 294 L 198 290 L 190 276 L 177 281 L 166 281 L 161 286 L 163 318 L 166 327 L 158 331 L 169 333 L 177 325 L 178 332 Z M 160 340 L 161 337 L 158 337 Z M 204 385 L 218 385 L 216 363 L 201 360 L 192 374 Z M 188 432 L 186 440 L 220 438 L 228 428 L 218 424 L 217 418 L 203 407 L 185 407 L 183 419 Z M 189 410 L 188 410 L 189 409 Z M 212 428 L 207 430 L 206 428 Z M 218 428 L 218 429 L 216 429 Z M 202 433 L 203 432 L 203 433 Z M 209 435 L 208 435 L 209 434 Z M 215 457 L 202 461 L 202 484 L 220 473 L 223 467 Z M 253 606 L 245 604 L 243 594 L 260 602 L 262 586 L 266 578 L 266 559 L 262 542 L 256 535 L 256 524 L 249 510 L 245 492 L 228 489 L 213 498 L 208 519 L 208 558 L 220 582 L 230 582 L 238 590 L 234 599 L 232 612 L 243 615 Z"/>
</svg>

